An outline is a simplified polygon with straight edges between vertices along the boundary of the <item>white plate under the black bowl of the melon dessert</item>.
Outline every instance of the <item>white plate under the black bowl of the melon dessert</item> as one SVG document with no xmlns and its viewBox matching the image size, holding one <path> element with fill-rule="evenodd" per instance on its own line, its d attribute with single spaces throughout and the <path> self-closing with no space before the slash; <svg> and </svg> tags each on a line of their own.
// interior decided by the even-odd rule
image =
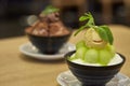
<svg viewBox="0 0 130 86">
<path fill-rule="evenodd" d="M 81 86 L 81 83 L 70 71 L 60 73 L 56 81 L 61 86 Z M 118 73 L 106 86 L 130 86 L 130 78 L 125 74 Z"/>
</svg>

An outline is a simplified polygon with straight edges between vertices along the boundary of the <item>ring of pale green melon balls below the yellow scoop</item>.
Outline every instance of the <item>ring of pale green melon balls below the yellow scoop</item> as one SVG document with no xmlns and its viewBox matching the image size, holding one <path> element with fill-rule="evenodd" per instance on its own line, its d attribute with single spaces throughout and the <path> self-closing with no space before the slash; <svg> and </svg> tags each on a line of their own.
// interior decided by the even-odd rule
<svg viewBox="0 0 130 86">
<path fill-rule="evenodd" d="M 104 48 L 88 47 L 84 41 L 76 44 L 76 54 L 73 59 L 81 59 L 83 62 L 107 64 L 115 56 L 115 48 L 107 44 Z"/>
</svg>

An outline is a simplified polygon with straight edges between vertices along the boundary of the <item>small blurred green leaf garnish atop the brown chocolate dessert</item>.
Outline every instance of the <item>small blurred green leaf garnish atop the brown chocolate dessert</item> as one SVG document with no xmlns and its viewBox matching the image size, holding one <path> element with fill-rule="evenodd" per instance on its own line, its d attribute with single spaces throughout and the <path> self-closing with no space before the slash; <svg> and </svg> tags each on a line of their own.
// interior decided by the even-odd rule
<svg viewBox="0 0 130 86">
<path fill-rule="evenodd" d="M 57 9 L 57 8 L 54 8 L 54 6 L 52 6 L 52 5 L 48 5 L 42 12 L 41 12 L 41 14 L 50 14 L 50 13 L 54 13 L 54 12 L 58 12 L 60 11 L 60 9 Z"/>
</svg>

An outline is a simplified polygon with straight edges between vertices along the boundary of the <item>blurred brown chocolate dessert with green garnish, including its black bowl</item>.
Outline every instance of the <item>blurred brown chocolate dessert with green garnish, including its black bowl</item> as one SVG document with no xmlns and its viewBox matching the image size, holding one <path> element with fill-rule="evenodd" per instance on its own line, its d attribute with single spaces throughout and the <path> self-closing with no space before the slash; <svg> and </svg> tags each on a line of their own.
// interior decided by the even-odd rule
<svg viewBox="0 0 130 86">
<path fill-rule="evenodd" d="M 58 9 L 47 6 L 38 20 L 25 29 L 29 41 L 43 54 L 55 54 L 67 42 L 72 31 L 60 19 Z"/>
</svg>

